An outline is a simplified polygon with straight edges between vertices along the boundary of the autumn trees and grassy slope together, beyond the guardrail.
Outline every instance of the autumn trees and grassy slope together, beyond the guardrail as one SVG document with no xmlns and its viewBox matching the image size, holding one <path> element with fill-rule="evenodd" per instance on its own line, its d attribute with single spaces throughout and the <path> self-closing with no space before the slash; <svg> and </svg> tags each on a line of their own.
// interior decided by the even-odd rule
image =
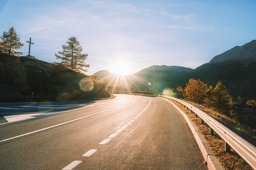
<svg viewBox="0 0 256 170">
<path fill-rule="evenodd" d="M 245 102 L 239 96 L 232 98 L 221 82 L 213 88 L 194 79 L 190 79 L 185 89 L 178 93 L 183 96 L 184 100 L 192 102 L 210 116 L 232 127 L 233 131 L 256 146 L 256 125 L 254 123 L 256 102 L 254 99 Z"/>
</svg>

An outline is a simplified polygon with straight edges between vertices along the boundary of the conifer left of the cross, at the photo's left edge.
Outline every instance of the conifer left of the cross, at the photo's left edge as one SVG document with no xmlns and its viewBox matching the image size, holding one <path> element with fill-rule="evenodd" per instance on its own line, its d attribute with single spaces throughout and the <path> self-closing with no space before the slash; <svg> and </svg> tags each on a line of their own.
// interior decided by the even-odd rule
<svg viewBox="0 0 256 170">
<path fill-rule="evenodd" d="M 12 27 L 9 29 L 8 32 L 3 33 L 3 36 L 0 37 L 0 52 L 14 55 L 14 56 L 21 56 L 22 52 L 17 52 L 15 50 L 20 49 L 24 44 L 20 42 L 20 37 L 18 37 L 18 34 L 16 33 L 15 29 Z"/>
</svg>

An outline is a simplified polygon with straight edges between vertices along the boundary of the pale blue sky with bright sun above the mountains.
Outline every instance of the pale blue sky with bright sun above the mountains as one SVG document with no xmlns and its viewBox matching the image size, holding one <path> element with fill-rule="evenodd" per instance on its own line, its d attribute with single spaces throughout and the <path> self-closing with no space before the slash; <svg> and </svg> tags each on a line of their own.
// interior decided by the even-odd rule
<svg viewBox="0 0 256 170">
<path fill-rule="evenodd" d="M 197 68 L 256 39 L 255 0 L 1 0 L 0 36 L 14 27 L 18 51 L 60 62 L 69 37 L 88 54 L 87 75 L 127 75 L 152 65 Z"/>
</svg>

